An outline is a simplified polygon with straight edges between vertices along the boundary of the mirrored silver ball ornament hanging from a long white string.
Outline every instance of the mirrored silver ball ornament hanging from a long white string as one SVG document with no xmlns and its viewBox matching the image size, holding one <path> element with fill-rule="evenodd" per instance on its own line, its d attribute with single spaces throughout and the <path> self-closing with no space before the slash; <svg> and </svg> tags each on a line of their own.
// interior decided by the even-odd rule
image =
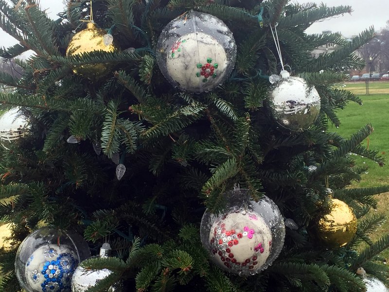
<svg viewBox="0 0 389 292">
<path fill-rule="evenodd" d="M 272 84 L 267 92 L 271 116 L 290 131 L 309 129 L 320 112 L 320 96 L 314 86 L 300 77 L 286 77 Z"/>
</svg>

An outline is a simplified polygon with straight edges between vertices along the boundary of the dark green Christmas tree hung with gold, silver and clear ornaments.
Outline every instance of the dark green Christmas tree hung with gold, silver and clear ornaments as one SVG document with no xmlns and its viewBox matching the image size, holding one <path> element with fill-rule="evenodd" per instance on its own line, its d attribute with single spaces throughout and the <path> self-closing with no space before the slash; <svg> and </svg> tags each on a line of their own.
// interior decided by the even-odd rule
<svg viewBox="0 0 389 292">
<path fill-rule="evenodd" d="M 373 195 L 389 186 L 350 187 L 367 171 L 350 153 L 384 164 L 361 146 L 373 128 L 350 138 L 333 131 L 338 110 L 362 104 L 337 85 L 364 67 L 353 52 L 374 30 L 351 42 L 304 32 L 351 7 L 69 0 L 52 20 L 35 0 L 10 2 L 0 0 L 0 27 L 19 43 L 0 55 L 22 76 L 0 73 L 0 83 L 14 88 L 1 92 L 0 102 L 20 107 L 29 129 L 0 150 L 0 217 L 12 223 L 12 247 L 0 255 L 1 291 L 20 291 L 18 247 L 44 226 L 82 234 L 92 255 L 110 243 L 112 257 L 82 263 L 112 272 L 90 292 L 118 281 L 123 291 L 138 292 L 366 291 L 358 268 L 389 283 L 379 256 L 389 235 L 370 238 L 385 218 L 369 213 Z M 313 58 L 325 44 L 338 49 Z M 27 60 L 17 59 L 29 50 Z M 284 91 L 306 100 L 280 106 Z M 259 223 L 237 226 L 243 233 L 226 230 L 228 220 L 247 215 L 228 208 L 247 200 L 278 206 L 271 210 L 281 212 L 284 241 L 283 226 L 278 237 L 265 223 L 262 234 Z M 216 225 L 200 228 L 205 212 Z M 350 218 L 336 233 L 332 212 Z M 265 222 L 265 212 L 253 214 Z M 266 240 L 251 252 L 263 257 L 261 269 L 257 256 L 238 263 L 249 249 L 234 244 L 260 235 Z M 61 289 L 55 291 L 70 291 Z"/>
</svg>

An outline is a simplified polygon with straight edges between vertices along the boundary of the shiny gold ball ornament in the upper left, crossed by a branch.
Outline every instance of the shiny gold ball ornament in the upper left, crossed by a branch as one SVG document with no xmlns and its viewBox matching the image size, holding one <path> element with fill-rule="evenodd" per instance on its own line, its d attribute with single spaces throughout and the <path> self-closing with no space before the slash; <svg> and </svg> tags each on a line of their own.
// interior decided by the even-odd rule
<svg viewBox="0 0 389 292">
<path fill-rule="evenodd" d="M 71 38 L 69 47 L 66 50 L 66 55 L 81 55 L 94 51 L 104 51 L 108 53 L 116 51 L 117 48 L 112 43 L 108 45 L 104 43 L 105 35 L 107 35 L 107 33 L 104 29 L 97 28 L 94 23 L 88 22 L 86 29 L 75 34 Z M 107 63 L 88 64 L 75 66 L 73 72 L 83 75 L 88 79 L 99 79 L 108 73 L 110 67 L 110 64 Z"/>
</svg>

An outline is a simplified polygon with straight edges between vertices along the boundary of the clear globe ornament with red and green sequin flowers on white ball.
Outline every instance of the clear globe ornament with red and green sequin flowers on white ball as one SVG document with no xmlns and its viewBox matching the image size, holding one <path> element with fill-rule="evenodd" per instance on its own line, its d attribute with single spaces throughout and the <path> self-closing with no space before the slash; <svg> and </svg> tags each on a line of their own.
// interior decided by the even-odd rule
<svg viewBox="0 0 389 292">
<path fill-rule="evenodd" d="M 159 36 L 159 69 L 183 91 L 210 91 L 230 75 L 236 60 L 236 44 L 220 19 L 190 12 L 171 21 Z"/>
</svg>

